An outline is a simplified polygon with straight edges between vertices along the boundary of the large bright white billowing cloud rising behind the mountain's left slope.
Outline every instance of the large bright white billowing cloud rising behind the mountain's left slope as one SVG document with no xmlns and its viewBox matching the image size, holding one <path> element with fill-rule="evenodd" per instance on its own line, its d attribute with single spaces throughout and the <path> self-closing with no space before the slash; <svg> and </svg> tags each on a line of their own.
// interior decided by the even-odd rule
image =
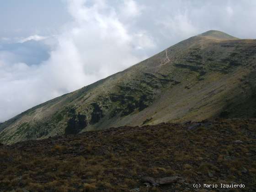
<svg viewBox="0 0 256 192">
<path fill-rule="evenodd" d="M 58 43 L 47 61 L 27 65 L 0 57 L 0 109 L 4 109 L 0 121 L 138 63 L 146 55 L 138 55 L 136 46 L 142 50 L 154 47 L 146 32 L 129 31 L 117 8 L 107 1 L 96 0 L 91 5 L 86 0 L 67 2 L 74 21 L 54 37 Z M 123 6 L 128 6 L 129 14 L 138 7 L 132 1 Z M 34 35 L 20 43 L 46 38 Z"/>
</svg>

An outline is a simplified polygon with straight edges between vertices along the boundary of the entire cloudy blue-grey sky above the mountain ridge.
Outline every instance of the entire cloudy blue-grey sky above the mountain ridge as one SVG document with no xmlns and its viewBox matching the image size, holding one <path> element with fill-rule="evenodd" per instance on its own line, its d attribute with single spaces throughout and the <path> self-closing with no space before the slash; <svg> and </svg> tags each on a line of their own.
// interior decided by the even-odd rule
<svg viewBox="0 0 256 192">
<path fill-rule="evenodd" d="M 256 38 L 254 0 L 0 2 L 0 122 L 220 30 Z"/>
</svg>

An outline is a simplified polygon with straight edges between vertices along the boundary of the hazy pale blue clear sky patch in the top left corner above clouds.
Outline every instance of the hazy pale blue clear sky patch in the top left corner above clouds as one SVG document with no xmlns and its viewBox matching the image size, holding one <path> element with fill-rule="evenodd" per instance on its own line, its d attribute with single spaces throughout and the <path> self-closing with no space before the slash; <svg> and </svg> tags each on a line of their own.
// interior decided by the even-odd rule
<svg viewBox="0 0 256 192">
<path fill-rule="evenodd" d="M 26 37 L 56 33 L 70 21 L 64 0 L 2 0 L 0 37 Z"/>
</svg>

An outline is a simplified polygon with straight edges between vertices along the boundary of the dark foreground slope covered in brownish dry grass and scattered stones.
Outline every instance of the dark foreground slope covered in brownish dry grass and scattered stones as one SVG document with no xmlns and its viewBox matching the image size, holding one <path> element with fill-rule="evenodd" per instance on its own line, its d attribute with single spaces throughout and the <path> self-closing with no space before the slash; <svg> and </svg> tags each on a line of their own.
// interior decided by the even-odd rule
<svg viewBox="0 0 256 192">
<path fill-rule="evenodd" d="M 121 127 L 0 146 L 0 192 L 254 192 L 256 119 Z M 145 176 L 178 178 L 144 185 Z M 220 188 L 243 184 L 244 188 Z"/>
</svg>

